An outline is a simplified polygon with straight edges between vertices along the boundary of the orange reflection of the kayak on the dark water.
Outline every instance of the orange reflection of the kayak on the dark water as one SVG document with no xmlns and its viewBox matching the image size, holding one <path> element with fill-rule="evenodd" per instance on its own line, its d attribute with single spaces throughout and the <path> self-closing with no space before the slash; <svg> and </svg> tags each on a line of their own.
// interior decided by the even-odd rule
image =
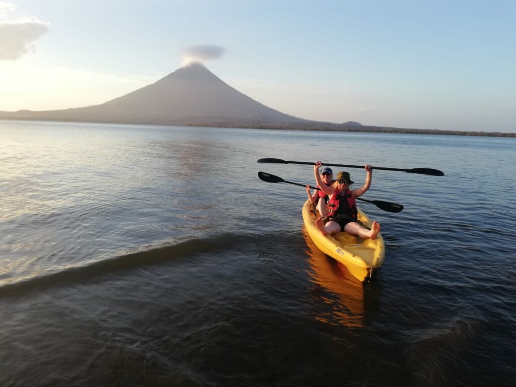
<svg viewBox="0 0 516 387">
<path fill-rule="evenodd" d="M 315 292 L 317 301 L 322 301 L 327 308 L 316 319 L 328 324 L 342 324 L 348 327 L 362 327 L 364 318 L 364 287 L 354 278 L 344 265 L 321 252 L 313 243 L 303 227 L 304 240 L 307 242 L 307 254 L 312 271 L 313 283 L 326 289 L 331 294 Z"/>
</svg>

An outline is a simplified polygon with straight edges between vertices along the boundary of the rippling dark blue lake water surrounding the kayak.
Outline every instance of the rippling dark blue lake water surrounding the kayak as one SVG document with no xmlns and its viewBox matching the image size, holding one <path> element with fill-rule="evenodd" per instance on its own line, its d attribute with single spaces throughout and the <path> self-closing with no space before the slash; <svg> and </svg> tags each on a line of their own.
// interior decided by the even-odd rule
<svg viewBox="0 0 516 387">
<path fill-rule="evenodd" d="M 361 284 L 304 235 L 375 171 Z M 516 141 L 0 121 L 0 386 L 513 386 Z M 337 168 L 335 168 L 337 170 Z M 362 169 L 350 170 L 356 185 Z"/>
</svg>

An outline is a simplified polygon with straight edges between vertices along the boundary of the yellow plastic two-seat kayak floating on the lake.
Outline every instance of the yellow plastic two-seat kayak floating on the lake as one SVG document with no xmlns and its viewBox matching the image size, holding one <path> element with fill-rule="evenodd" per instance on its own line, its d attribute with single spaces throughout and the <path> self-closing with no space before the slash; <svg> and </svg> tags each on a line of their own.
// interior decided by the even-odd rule
<svg viewBox="0 0 516 387">
<path fill-rule="evenodd" d="M 346 266 L 358 280 L 371 278 L 374 269 L 380 267 L 385 258 L 385 244 L 381 234 L 376 239 L 362 239 L 345 232 L 325 236 L 315 227 L 315 219 L 319 215 L 316 216 L 315 213 L 314 206 L 307 200 L 303 206 L 304 227 L 315 246 Z M 358 220 L 367 227 L 371 227 L 373 223 L 360 208 Z"/>
</svg>

